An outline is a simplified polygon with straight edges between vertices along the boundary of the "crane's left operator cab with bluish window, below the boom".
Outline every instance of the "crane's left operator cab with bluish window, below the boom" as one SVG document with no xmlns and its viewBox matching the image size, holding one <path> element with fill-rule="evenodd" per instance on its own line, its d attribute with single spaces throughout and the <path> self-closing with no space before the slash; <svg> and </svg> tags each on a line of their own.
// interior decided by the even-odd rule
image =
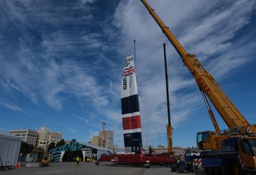
<svg viewBox="0 0 256 175">
<path fill-rule="evenodd" d="M 198 149 L 211 149 L 211 143 L 210 143 L 210 139 L 211 137 L 213 137 L 215 134 L 215 132 L 213 131 L 203 131 L 203 132 L 197 132 L 197 147 Z"/>
</svg>

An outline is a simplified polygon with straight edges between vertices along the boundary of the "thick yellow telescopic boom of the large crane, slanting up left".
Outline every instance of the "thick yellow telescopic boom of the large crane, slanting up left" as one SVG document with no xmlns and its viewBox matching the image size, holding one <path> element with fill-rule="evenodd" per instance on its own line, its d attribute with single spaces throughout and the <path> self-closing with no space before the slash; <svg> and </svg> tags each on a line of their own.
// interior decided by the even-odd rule
<svg viewBox="0 0 256 175">
<path fill-rule="evenodd" d="M 141 0 L 141 2 L 148 9 L 149 13 L 160 26 L 163 33 L 172 43 L 176 51 L 179 53 L 183 63 L 189 69 L 192 76 L 195 78 L 199 89 L 207 95 L 207 97 L 212 102 L 213 106 L 218 111 L 228 128 L 250 127 L 251 125 L 249 124 L 249 122 L 242 116 L 242 114 L 239 112 L 233 102 L 228 98 L 224 90 L 215 81 L 212 75 L 210 75 L 202 66 L 202 64 L 196 59 L 195 55 L 186 52 L 186 50 L 171 33 L 169 28 L 165 26 L 164 22 L 158 17 L 154 9 L 150 7 L 146 0 Z M 213 121 L 214 127 L 215 125 L 216 127 L 218 127 L 214 116 L 210 115 L 210 117 Z M 215 130 L 217 131 L 216 127 Z M 251 127 L 251 131 L 253 133 L 256 133 L 255 125 Z"/>
</svg>

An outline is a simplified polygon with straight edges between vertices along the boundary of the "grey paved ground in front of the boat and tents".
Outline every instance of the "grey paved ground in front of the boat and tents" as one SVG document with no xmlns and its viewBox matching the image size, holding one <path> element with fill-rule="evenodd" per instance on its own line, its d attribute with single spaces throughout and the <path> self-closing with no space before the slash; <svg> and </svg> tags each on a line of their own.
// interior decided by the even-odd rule
<svg viewBox="0 0 256 175">
<path fill-rule="evenodd" d="M 54 174 L 54 175 L 80 175 L 80 174 L 95 174 L 95 175 L 165 175 L 165 174 L 178 174 L 177 172 L 171 172 L 170 167 L 165 166 L 151 166 L 145 167 L 132 167 L 132 166 L 111 166 L 110 162 L 100 162 L 100 165 L 96 166 L 94 163 L 82 162 L 77 167 L 74 162 L 60 162 L 50 163 L 49 167 L 25 167 L 22 166 L 18 169 L 12 169 L 7 171 L 0 171 L 0 174 L 5 175 L 36 175 L 36 174 Z M 195 173 L 189 173 L 195 174 Z M 204 173 L 200 171 L 199 175 Z"/>
</svg>

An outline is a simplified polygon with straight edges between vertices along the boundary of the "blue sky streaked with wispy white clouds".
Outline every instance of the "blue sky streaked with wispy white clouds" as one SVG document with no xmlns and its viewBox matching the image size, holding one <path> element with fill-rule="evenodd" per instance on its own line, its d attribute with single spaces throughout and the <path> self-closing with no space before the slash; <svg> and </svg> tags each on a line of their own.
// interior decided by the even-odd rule
<svg viewBox="0 0 256 175">
<path fill-rule="evenodd" d="M 255 1 L 148 2 L 256 123 Z M 146 135 L 149 144 L 166 145 L 164 42 L 173 144 L 195 145 L 197 131 L 214 129 L 194 79 L 139 0 L 17 0 L 0 7 L 1 130 L 46 125 L 64 139 L 89 141 L 104 120 L 123 145 L 121 72 L 134 53 L 134 29 L 144 145 Z"/>
</svg>

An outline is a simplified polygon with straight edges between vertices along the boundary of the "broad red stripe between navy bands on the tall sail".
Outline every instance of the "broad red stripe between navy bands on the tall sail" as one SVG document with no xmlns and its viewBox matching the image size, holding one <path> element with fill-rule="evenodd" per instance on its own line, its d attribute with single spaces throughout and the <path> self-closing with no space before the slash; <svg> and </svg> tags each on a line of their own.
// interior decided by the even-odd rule
<svg viewBox="0 0 256 175">
<path fill-rule="evenodd" d="M 141 116 L 135 115 L 132 117 L 123 117 L 122 118 L 122 128 L 123 128 L 123 130 L 142 128 Z"/>
</svg>

